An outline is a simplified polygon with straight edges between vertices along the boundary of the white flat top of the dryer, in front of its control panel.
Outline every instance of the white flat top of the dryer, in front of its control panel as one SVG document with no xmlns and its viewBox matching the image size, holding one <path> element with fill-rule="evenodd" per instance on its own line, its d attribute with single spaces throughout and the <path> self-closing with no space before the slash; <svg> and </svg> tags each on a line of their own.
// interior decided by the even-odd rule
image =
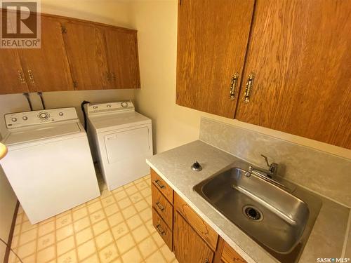
<svg viewBox="0 0 351 263">
<path fill-rule="evenodd" d="M 118 114 L 89 116 L 89 121 L 96 130 L 96 133 L 151 123 L 149 118 L 138 112 L 123 112 Z"/>
</svg>

